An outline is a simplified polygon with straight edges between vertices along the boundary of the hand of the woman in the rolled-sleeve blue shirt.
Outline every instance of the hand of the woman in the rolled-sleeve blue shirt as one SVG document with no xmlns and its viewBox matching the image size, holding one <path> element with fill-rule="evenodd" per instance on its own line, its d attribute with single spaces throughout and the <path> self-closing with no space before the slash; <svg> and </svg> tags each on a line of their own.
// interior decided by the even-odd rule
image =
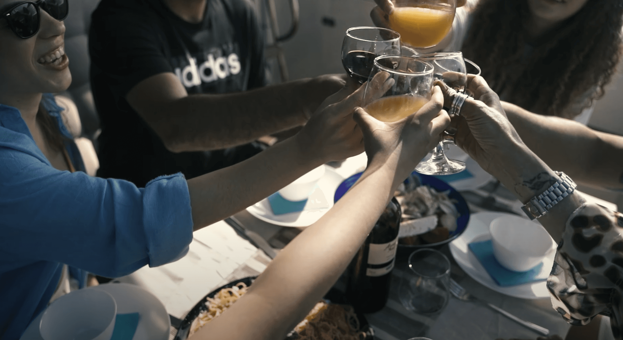
<svg viewBox="0 0 623 340">
<path fill-rule="evenodd" d="M 387 72 L 379 72 L 369 82 L 368 91 L 373 99 L 381 97 L 393 84 Z M 354 92 L 353 87 L 343 87 L 326 98 L 303 129 L 293 137 L 298 148 L 309 158 L 327 163 L 364 151 L 363 135 L 353 120 L 353 111 L 356 106 L 366 105 L 363 98 L 366 83 L 354 87 Z"/>
</svg>

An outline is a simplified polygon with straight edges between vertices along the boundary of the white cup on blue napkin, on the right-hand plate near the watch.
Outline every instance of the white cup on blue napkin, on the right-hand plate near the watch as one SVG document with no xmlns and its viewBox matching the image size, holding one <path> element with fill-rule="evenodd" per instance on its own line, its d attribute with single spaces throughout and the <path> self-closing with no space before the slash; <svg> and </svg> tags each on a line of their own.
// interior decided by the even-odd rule
<svg viewBox="0 0 623 340">
<path fill-rule="evenodd" d="M 493 255 L 504 267 L 526 272 L 553 251 L 552 238 L 540 225 L 519 216 L 503 216 L 489 225 Z"/>
</svg>

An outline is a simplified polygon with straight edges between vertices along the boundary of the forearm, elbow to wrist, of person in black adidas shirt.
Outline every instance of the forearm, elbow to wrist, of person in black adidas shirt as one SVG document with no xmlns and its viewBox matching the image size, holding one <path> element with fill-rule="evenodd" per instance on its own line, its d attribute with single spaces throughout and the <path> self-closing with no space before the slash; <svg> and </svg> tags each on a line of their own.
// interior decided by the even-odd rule
<svg viewBox="0 0 623 340">
<path fill-rule="evenodd" d="M 307 121 L 310 79 L 247 92 L 197 94 L 163 108 L 161 137 L 169 149 L 203 151 L 249 143 Z M 320 102 L 318 102 L 320 103 Z"/>
</svg>

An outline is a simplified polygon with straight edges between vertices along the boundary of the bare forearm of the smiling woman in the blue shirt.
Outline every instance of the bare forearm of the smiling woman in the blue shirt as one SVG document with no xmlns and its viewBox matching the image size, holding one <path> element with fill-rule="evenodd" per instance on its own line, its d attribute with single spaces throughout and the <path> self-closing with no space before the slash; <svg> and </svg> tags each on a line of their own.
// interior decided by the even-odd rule
<svg viewBox="0 0 623 340">
<path fill-rule="evenodd" d="M 302 153 L 295 137 L 241 163 L 188 180 L 194 230 L 225 219 L 324 163 Z"/>
</svg>

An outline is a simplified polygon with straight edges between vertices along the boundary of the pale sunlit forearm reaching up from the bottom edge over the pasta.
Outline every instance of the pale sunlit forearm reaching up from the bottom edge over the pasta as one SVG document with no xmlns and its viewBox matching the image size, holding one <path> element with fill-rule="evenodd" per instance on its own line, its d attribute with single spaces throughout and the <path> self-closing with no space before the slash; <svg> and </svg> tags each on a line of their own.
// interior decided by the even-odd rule
<svg viewBox="0 0 623 340">
<path fill-rule="evenodd" d="M 277 255 L 245 296 L 196 338 L 282 339 L 344 272 L 400 182 L 397 178 L 391 166 L 369 166 L 329 212 Z"/>
</svg>

